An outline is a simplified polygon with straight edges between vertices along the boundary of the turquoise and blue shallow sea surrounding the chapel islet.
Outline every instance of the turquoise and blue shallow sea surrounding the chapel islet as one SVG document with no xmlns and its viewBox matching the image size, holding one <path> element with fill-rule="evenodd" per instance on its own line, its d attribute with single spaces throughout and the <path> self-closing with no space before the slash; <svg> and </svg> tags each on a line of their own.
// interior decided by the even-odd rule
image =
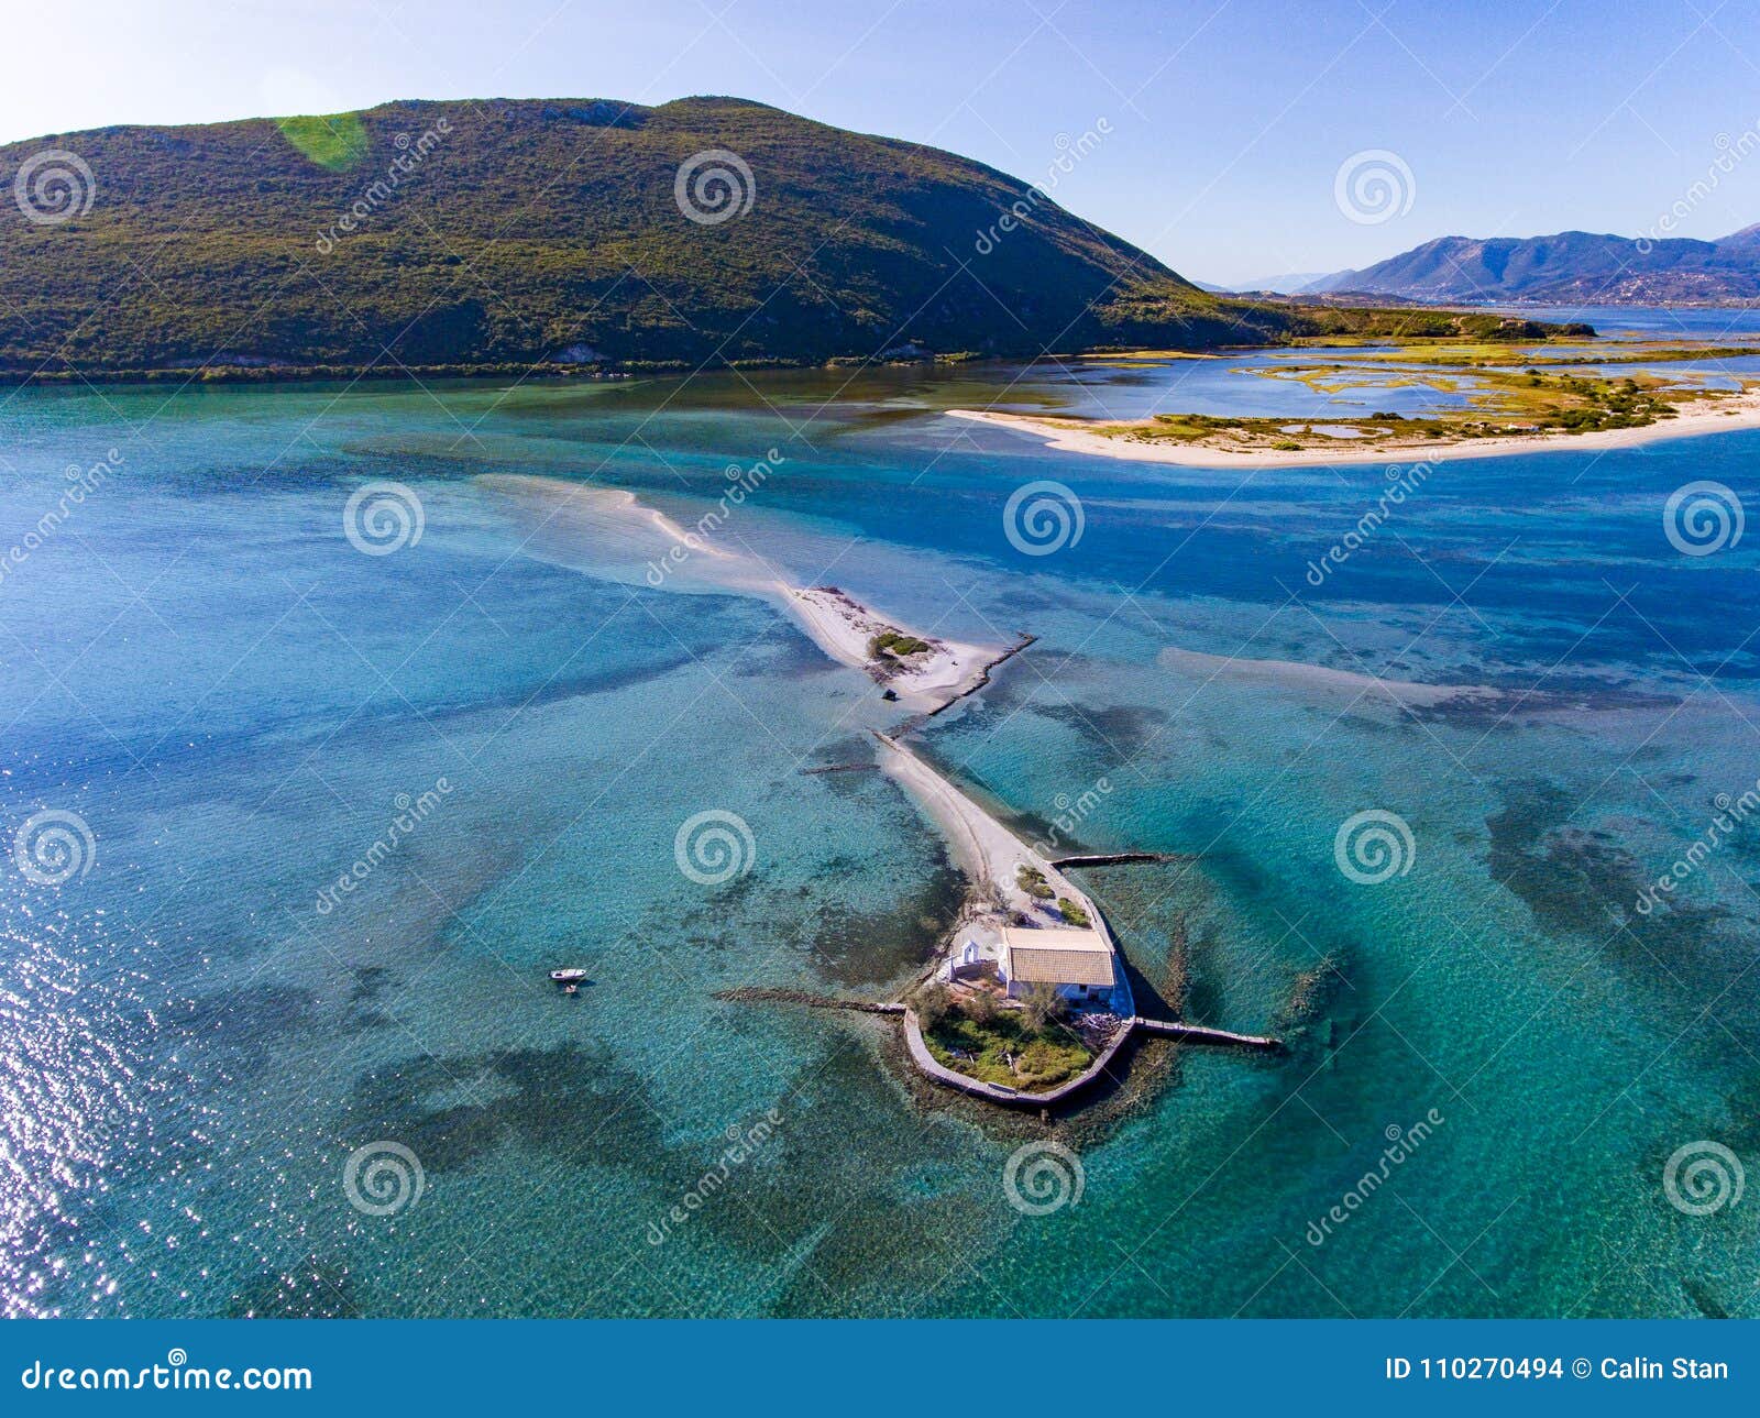
<svg viewBox="0 0 1760 1418">
<path fill-rule="evenodd" d="M 9 392 L 0 1311 L 1751 1316 L 1760 1210 L 1704 1188 L 1760 1156 L 1760 829 L 1637 903 L 1760 778 L 1760 537 L 1665 517 L 1751 505 L 1760 433 L 1438 464 L 1315 586 L 1382 466 L 940 412 L 1324 412 L 1234 373 L 1267 359 Z M 917 744 L 1024 832 L 1081 804 L 1082 848 L 1181 853 L 1086 885 L 1146 982 L 1287 1054 L 1146 1047 L 1042 1124 L 922 1091 L 871 1019 L 716 998 L 922 968 L 942 841 L 803 772 L 898 714 L 496 475 L 690 526 L 759 463 L 716 537 L 1038 637 Z M 1007 535 L 1031 482 L 1081 510 L 1049 554 Z M 1410 832 L 1378 883 L 1336 857 L 1364 811 Z M 746 871 L 681 871 L 702 813 Z M 1045 1142 L 1082 1188 L 1035 1216 L 1005 1168 Z"/>
</svg>

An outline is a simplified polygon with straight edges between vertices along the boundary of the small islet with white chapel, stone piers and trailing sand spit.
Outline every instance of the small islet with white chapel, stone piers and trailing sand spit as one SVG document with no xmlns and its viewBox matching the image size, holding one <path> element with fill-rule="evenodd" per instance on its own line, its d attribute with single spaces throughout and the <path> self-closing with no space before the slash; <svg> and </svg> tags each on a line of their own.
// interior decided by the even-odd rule
<svg viewBox="0 0 1760 1418">
<path fill-rule="evenodd" d="M 655 589 L 713 588 L 785 609 L 829 658 L 862 670 L 887 700 L 915 711 L 899 732 L 975 693 L 993 669 L 1033 644 L 1026 633 L 1008 647 L 949 640 L 838 586 L 790 586 L 737 538 L 716 537 L 709 517 L 683 526 L 627 489 L 530 475 L 482 480 L 530 517 L 533 535 L 583 538 L 614 549 L 623 565 L 646 559 L 641 579 Z M 792 990 L 780 998 L 903 1015 L 917 1068 L 940 1084 L 1012 1107 L 1049 1107 L 1088 1087 L 1139 1029 L 1200 1043 L 1278 1047 L 1257 1034 L 1140 1019 L 1125 957 L 1095 901 L 1058 862 L 1023 843 L 898 737 L 875 737 L 880 767 L 947 836 L 970 883 L 966 906 L 954 932 L 938 943 L 931 976 L 903 1001 L 818 999 Z M 734 998 L 773 992 L 737 990 Z"/>
</svg>

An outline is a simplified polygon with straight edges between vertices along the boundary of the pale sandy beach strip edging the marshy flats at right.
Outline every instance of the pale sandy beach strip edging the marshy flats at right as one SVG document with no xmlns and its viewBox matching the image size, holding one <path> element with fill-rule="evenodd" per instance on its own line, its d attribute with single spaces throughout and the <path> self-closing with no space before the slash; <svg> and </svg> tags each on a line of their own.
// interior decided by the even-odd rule
<svg viewBox="0 0 1760 1418">
<path fill-rule="evenodd" d="M 1369 443 L 1369 447 L 1338 450 L 1255 449 L 1253 452 L 1237 452 L 1209 443 L 1114 438 L 1105 433 L 1095 433 L 1096 422 L 1084 419 L 998 413 L 982 408 L 949 408 L 945 413 L 949 419 L 991 424 L 1012 433 L 1040 438 L 1045 447 L 1056 452 L 1118 457 L 1126 463 L 1165 463 L 1177 468 L 1336 468 L 1353 463 L 1443 463 L 1447 459 L 1508 457 L 1528 452 L 1595 452 L 1660 443 L 1670 438 L 1700 438 L 1709 433 L 1737 433 L 1741 429 L 1760 428 L 1760 392 L 1730 394 L 1702 412 L 1658 419 L 1654 424 L 1646 424 L 1644 428 L 1600 429 L 1595 433 L 1512 433 L 1496 438 L 1426 438 L 1404 443 L 1360 440 L 1362 443 Z M 1148 428 L 1148 424 L 1142 426 Z"/>
</svg>

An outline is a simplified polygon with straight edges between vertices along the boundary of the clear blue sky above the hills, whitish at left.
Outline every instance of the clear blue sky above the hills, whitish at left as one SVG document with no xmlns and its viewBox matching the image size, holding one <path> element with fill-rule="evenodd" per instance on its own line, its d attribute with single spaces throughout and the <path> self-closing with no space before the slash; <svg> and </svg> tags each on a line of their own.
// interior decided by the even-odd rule
<svg viewBox="0 0 1760 1418">
<path fill-rule="evenodd" d="M 1756 18 L 1716 0 L 49 0 L 7 14 L 0 141 L 387 99 L 734 93 L 1044 181 L 1060 135 L 1105 120 L 1056 199 L 1232 281 L 1445 234 L 1639 234 L 1676 202 L 1679 236 L 1760 220 Z M 1744 134 L 1753 155 L 1704 190 Z M 1389 169 L 1383 222 L 1336 201 L 1364 151 L 1410 171 Z"/>
</svg>

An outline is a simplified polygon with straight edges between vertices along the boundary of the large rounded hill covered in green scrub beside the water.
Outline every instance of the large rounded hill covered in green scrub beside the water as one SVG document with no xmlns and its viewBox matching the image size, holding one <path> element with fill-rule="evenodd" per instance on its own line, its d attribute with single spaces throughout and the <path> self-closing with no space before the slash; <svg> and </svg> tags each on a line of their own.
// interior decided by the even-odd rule
<svg viewBox="0 0 1760 1418">
<path fill-rule="evenodd" d="M 46 150 L 90 183 L 56 190 Z M 699 215 L 734 208 L 690 220 L 679 169 L 709 150 L 752 179 L 686 172 Z M 734 99 L 102 128 L 0 148 L 0 181 L 23 185 L 0 204 L 14 376 L 1016 355 L 1302 325 L 980 164 Z"/>
</svg>

